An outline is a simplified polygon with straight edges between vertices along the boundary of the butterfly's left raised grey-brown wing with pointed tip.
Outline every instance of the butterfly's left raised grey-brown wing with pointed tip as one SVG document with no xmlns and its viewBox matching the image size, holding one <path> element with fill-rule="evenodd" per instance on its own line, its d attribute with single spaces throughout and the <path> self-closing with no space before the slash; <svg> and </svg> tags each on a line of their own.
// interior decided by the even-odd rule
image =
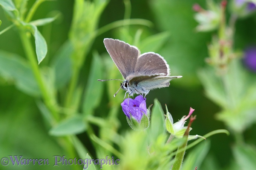
<svg viewBox="0 0 256 170">
<path fill-rule="evenodd" d="M 134 74 L 136 61 L 140 55 L 138 48 L 118 39 L 105 38 L 103 42 L 124 79 Z"/>
</svg>

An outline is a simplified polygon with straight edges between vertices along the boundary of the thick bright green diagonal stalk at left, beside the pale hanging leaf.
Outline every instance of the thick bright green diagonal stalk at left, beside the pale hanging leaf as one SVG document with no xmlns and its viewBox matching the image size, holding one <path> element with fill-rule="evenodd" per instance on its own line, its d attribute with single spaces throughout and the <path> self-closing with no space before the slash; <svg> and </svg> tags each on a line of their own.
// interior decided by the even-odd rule
<svg viewBox="0 0 256 170">
<path fill-rule="evenodd" d="M 54 99 L 51 99 L 51 96 L 49 95 L 46 85 L 44 85 L 42 75 L 40 73 L 38 62 L 36 60 L 36 55 L 34 52 L 34 48 L 32 47 L 31 41 L 27 35 L 27 31 L 24 28 L 20 29 L 20 38 L 21 43 L 23 45 L 23 48 L 25 50 L 26 56 L 29 60 L 29 63 L 31 65 L 32 71 L 34 73 L 35 79 L 37 80 L 39 89 L 41 91 L 41 95 L 43 97 L 44 102 L 46 103 L 46 106 L 49 108 L 49 110 L 52 112 L 55 120 L 58 120 L 58 113 L 57 109 L 54 106 Z"/>
</svg>

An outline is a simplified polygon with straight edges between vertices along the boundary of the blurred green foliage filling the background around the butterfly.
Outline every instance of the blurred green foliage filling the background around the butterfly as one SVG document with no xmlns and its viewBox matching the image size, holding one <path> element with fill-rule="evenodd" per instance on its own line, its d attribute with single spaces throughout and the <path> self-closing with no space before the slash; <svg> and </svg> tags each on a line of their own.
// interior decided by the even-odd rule
<svg viewBox="0 0 256 170">
<path fill-rule="evenodd" d="M 0 169 L 83 168 L 53 166 L 54 155 L 120 159 L 120 165 L 104 169 L 169 169 L 181 141 L 165 144 L 164 104 L 174 121 L 195 109 L 193 135 L 225 128 L 232 134 L 215 135 L 187 150 L 183 169 L 255 168 L 256 74 L 238 58 L 223 86 L 205 64 L 216 32 L 196 31 L 195 3 L 207 6 L 203 0 L 0 0 L 0 158 L 22 155 L 50 163 L 0 164 Z M 237 20 L 232 50 L 255 43 L 255 19 L 252 14 Z M 120 82 L 97 81 L 123 79 L 104 38 L 159 53 L 172 76 L 183 76 L 147 95 L 153 107 L 146 132 L 127 125 L 120 107 L 124 91 L 113 97 Z"/>
</svg>

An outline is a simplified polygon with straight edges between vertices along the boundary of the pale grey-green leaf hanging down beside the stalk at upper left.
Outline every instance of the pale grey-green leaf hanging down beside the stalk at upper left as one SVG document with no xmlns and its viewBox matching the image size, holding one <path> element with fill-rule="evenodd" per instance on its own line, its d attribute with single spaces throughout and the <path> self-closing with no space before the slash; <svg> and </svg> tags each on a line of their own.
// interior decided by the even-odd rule
<svg viewBox="0 0 256 170">
<path fill-rule="evenodd" d="M 40 62 L 43 61 L 47 54 L 47 44 L 43 35 L 41 35 L 41 33 L 38 31 L 37 27 L 32 24 L 29 24 L 29 26 L 33 30 L 33 35 L 35 37 L 35 52 L 37 53 L 38 64 L 40 64 Z"/>
</svg>

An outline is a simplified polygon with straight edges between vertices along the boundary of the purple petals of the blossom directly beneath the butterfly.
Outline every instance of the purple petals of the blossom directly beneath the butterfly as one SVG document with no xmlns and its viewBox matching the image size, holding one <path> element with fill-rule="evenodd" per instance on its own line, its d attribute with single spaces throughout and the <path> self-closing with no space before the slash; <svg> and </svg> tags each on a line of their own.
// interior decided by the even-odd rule
<svg viewBox="0 0 256 170">
<path fill-rule="evenodd" d="M 130 115 L 140 123 L 143 114 L 147 115 L 146 98 L 144 99 L 141 95 L 135 97 L 135 99 L 128 98 L 121 103 L 124 114 L 131 119 Z"/>
</svg>

